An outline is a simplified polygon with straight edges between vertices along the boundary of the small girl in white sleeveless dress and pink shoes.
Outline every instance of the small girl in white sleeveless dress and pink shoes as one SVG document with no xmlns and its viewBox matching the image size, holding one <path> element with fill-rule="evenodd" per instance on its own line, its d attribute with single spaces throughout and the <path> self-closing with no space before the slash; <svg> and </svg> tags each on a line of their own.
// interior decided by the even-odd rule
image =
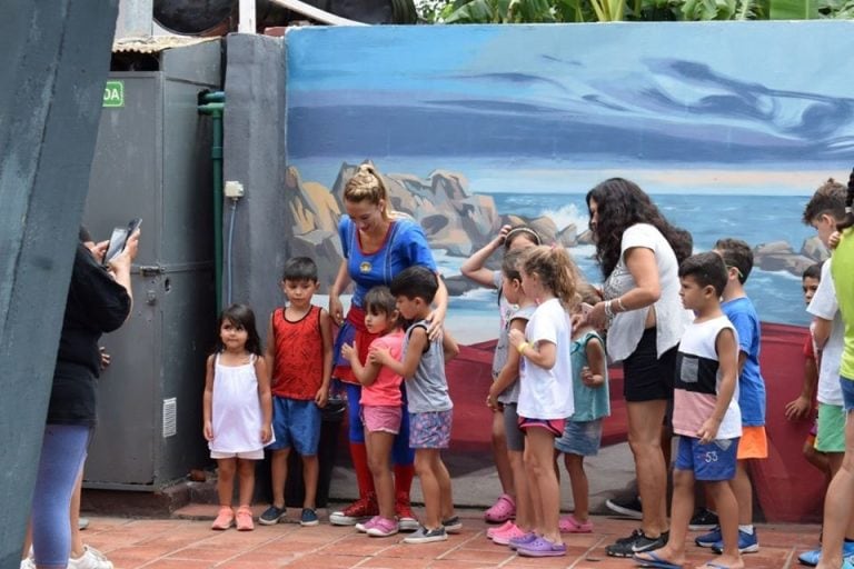
<svg viewBox="0 0 854 569">
<path fill-rule="evenodd" d="M 219 317 L 219 341 L 208 357 L 205 377 L 205 438 L 210 458 L 217 460 L 219 515 L 212 529 L 237 523 L 254 529 L 249 508 L 255 491 L 255 461 L 272 439 L 270 378 L 261 356 L 255 313 L 231 305 Z M 235 472 L 239 480 L 239 507 L 231 508 Z"/>
</svg>

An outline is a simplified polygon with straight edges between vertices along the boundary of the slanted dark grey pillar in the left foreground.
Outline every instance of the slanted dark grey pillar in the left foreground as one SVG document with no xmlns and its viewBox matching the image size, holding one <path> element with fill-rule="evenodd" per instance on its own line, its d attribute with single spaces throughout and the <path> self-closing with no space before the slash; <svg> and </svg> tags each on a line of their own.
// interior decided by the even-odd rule
<svg viewBox="0 0 854 569">
<path fill-rule="evenodd" d="M 0 568 L 16 569 L 95 152 L 117 0 L 0 18 Z"/>
</svg>

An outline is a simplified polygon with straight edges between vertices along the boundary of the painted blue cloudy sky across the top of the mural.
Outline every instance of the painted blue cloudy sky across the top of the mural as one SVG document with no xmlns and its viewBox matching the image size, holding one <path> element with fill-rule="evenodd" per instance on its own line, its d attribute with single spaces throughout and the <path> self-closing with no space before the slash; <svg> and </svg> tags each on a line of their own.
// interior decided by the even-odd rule
<svg viewBox="0 0 854 569">
<path fill-rule="evenodd" d="M 297 29 L 288 154 L 847 162 L 852 26 Z"/>
</svg>

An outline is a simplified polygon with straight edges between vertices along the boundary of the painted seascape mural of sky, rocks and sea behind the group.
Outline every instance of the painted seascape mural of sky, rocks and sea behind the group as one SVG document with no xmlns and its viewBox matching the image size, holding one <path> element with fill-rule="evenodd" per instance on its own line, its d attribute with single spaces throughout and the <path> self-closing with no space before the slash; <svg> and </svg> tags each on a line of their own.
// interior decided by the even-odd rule
<svg viewBox="0 0 854 569">
<path fill-rule="evenodd" d="M 807 321 L 800 273 L 825 251 L 808 196 L 854 161 L 851 22 L 312 28 L 287 36 L 287 189 L 297 249 L 339 262 L 342 182 L 373 160 L 428 234 L 449 328 L 494 338 L 495 293 L 459 266 L 533 222 L 594 282 L 584 196 L 632 179 L 694 236 L 756 248 L 759 316 Z M 298 252 L 298 251 L 292 251 Z"/>
</svg>

